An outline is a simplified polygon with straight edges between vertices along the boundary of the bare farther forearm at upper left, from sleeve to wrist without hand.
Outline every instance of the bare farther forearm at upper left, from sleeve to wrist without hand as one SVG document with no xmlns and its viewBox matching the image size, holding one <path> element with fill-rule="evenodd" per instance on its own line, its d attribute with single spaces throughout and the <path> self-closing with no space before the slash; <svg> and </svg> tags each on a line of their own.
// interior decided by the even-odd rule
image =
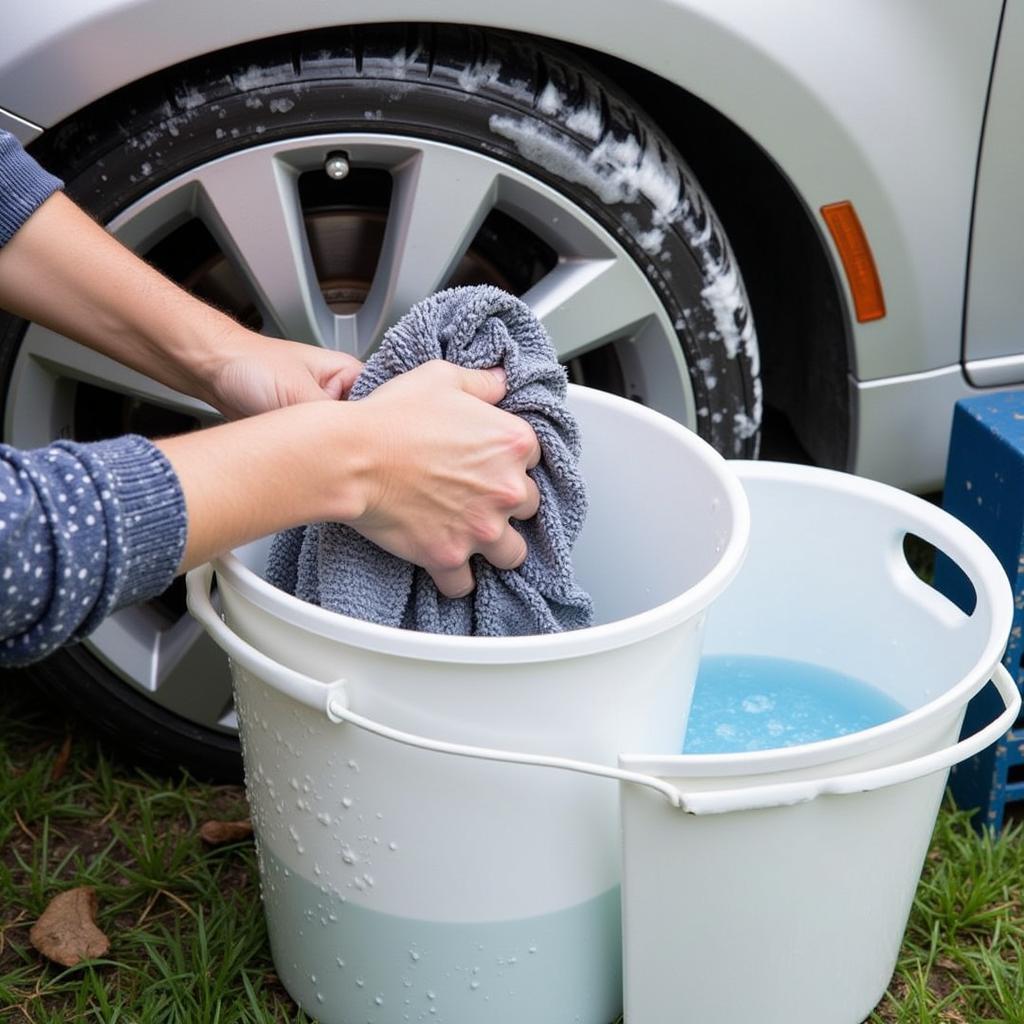
<svg viewBox="0 0 1024 1024">
<path fill-rule="evenodd" d="M 0 249 L 0 308 L 205 400 L 239 325 L 51 196 Z"/>
</svg>

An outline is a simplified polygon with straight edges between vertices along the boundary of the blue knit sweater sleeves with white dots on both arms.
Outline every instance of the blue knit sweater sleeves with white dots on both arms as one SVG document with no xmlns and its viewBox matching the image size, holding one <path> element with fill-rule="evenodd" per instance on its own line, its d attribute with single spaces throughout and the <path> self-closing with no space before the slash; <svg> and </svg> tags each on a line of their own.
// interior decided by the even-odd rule
<svg viewBox="0 0 1024 1024">
<path fill-rule="evenodd" d="M 60 184 L 0 131 L 0 246 Z M 144 437 L 0 444 L 0 666 L 44 657 L 159 594 L 185 532 L 178 479 Z"/>
</svg>

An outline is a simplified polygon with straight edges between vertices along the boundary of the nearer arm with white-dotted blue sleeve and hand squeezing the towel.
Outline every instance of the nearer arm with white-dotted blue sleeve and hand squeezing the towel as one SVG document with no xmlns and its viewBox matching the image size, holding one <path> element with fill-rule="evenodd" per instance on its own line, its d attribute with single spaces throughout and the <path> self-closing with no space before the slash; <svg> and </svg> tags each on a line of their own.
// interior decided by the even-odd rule
<svg viewBox="0 0 1024 1024">
<path fill-rule="evenodd" d="M 473 587 L 469 556 L 525 557 L 540 450 L 494 403 L 500 372 L 431 362 L 358 402 L 306 402 L 153 442 L 0 446 L 0 665 L 80 639 L 175 572 L 289 526 L 336 520 Z M 11 589 L 13 588 L 13 589 Z"/>
</svg>

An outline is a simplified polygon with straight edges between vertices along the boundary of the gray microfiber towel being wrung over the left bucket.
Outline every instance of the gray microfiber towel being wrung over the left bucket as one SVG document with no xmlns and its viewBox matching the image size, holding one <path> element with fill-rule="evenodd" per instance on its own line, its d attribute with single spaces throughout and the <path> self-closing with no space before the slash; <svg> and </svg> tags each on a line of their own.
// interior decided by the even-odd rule
<svg viewBox="0 0 1024 1024">
<path fill-rule="evenodd" d="M 540 510 L 513 520 L 527 546 L 517 569 L 471 560 L 476 589 L 446 598 L 429 573 L 349 526 L 315 523 L 279 534 L 267 580 L 296 597 L 356 618 L 426 633 L 526 636 L 589 626 L 593 605 L 575 582 L 571 552 L 587 513 L 580 431 L 565 408 L 565 371 L 525 303 L 497 288 L 453 288 L 415 305 L 384 336 L 349 394 L 357 401 L 429 359 L 482 370 L 505 368 L 501 409 L 523 417 L 541 445 L 529 471 Z"/>
</svg>

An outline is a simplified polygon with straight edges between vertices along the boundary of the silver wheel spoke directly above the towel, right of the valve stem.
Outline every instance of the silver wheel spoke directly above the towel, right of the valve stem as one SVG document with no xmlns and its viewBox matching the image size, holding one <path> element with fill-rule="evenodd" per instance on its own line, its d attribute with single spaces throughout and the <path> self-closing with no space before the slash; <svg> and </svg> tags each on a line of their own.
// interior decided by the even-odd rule
<svg viewBox="0 0 1024 1024">
<path fill-rule="evenodd" d="M 498 170 L 474 154 L 437 146 L 420 150 L 393 178 L 377 273 L 356 314 L 360 357 L 452 275 L 494 206 Z"/>
</svg>

